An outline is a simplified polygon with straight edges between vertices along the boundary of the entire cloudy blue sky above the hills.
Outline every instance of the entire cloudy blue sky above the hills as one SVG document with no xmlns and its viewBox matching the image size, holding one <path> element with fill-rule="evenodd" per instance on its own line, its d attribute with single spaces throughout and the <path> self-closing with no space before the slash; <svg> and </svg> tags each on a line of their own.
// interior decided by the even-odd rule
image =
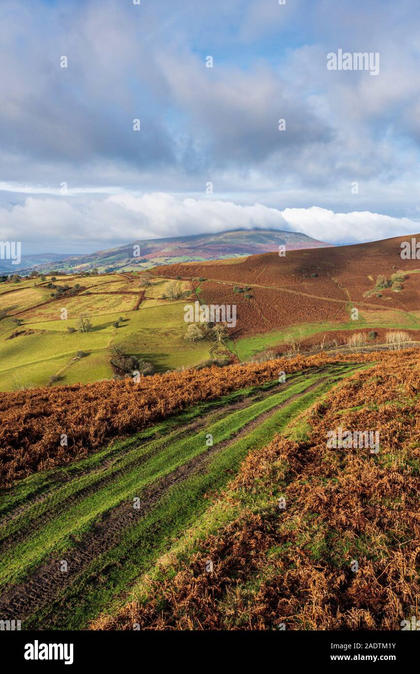
<svg viewBox="0 0 420 674">
<path fill-rule="evenodd" d="M 137 1 L 1 1 L 0 241 L 420 231 L 418 0 Z"/>
</svg>

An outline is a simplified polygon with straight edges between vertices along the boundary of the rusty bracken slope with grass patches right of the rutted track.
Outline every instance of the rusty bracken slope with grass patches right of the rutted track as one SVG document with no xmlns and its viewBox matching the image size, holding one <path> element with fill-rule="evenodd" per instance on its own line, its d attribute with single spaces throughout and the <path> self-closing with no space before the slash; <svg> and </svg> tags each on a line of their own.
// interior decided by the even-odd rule
<svg viewBox="0 0 420 674">
<path fill-rule="evenodd" d="M 359 371 L 250 452 L 105 630 L 400 630 L 419 618 L 418 352 Z M 380 451 L 327 446 L 373 430 Z"/>
</svg>

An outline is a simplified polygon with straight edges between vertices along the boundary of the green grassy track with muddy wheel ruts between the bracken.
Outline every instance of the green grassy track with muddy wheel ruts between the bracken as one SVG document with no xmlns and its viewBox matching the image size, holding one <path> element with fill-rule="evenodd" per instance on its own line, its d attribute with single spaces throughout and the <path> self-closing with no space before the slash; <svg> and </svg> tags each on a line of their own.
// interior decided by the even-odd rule
<svg viewBox="0 0 420 674">
<path fill-rule="evenodd" d="M 22 481 L 0 510 L 0 617 L 80 629 L 121 605 L 127 586 L 206 511 L 206 493 L 354 369 L 328 367 L 236 392 Z"/>
</svg>

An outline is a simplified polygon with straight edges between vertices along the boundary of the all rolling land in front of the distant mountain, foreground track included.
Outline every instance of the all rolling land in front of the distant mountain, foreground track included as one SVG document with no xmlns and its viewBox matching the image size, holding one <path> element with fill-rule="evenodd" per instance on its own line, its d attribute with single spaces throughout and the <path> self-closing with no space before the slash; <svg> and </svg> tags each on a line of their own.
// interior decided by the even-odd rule
<svg viewBox="0 0 420 674">
<path fill-rule="evenodd" d="M 399 251 L 388 239 L 1 283 L 1 619 L 416 621 L 420 265 Z M 213 302 L 237 304 L 229 338 L 185 340 L 185 305 Z M 386 350 L 396 328 L 411 344 Z M 297 353 L 299 331 L 298 350 L 326 334 L 369 346 Z M 138 376 L 143 361 L 156 373 Z M 359 444 L 328 446 L 338 428 Z"/>
</svg>

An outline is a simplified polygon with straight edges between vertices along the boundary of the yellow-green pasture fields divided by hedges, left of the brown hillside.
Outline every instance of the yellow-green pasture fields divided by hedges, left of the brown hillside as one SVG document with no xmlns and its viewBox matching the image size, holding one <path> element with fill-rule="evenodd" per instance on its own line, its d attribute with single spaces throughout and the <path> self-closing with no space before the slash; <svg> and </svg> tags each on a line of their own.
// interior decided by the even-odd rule
<svg viewBox="0 0 420 674">
<path fill-rule="evenodd" d="M 151 362 L 155 371 L 197 365 L 209 357 L 213 345 L 208 340 L 192 343 L 183 338 L 183 304 L 177 299 L 158 299 L 171 284 L 168 280 L 153 280 L 146 288 L 139 276 L 61 276 L 54 283 L 70 286 L 75 294 L 57 299 L 51 298 L 53 288 L 48 283 L 51 277 L 45 282 L 38 278 L 0 284 L 0 311 L 4 309 L 0 390 L 42 386 L 49 381 L 56 386 L 112 379 L 109 348 L 115 345 Z M 176 282 L 176 289 L 184 295 L 192 292 L 188 282 Z M 62 309 L 67 311 L 66 319 L 61 319 Z M 76 331 L 82 314 L 90 316 L 90 332 Z M 120 318 L 123 321 L 116 328 Z M 75 359 L 78 352 L 85 356 Z"/>
</svg>

